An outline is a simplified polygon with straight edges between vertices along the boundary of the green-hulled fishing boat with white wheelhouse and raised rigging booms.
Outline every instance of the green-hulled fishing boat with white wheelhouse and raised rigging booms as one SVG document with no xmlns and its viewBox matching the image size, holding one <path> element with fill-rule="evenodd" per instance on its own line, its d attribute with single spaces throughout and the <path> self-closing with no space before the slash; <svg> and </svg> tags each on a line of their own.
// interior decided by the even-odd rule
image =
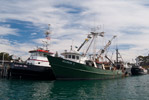
<svg viewBox="0 0 149 100">
<path fill-rule="evenodd" d="M 100 53 L 97 55 L 94 52 L 91 55 L 88 55 L 88 50 L 91 45 L 94 45 L 98 36 L 103 37 L 104 32 L 91 32 L 81 46 L 74 50 L 64 51 L 61 55 L 63 57 L 53 57 L 47 55 L 49 62 L 51 62 L 52 70 L 55 74 L 56 79 L 58 80 L 96 80 L 96 79 L 112 79 L 120 78 L 123 75 L 122 70 L 116 69 L 115 66 L 112 66 L 109 69 L 106 69 L 104 63 L 99 63 L 98 59 L 101 54 L 105 52 L 107 47 L 111 44 L 111 41 L 107 43 L 104 49 L 100 50 Z M 114 36 L 115 38 L 115 36 Z M 112 38 L 112 39 L 114 39 Z M 79 50 L 89 42 L 89 46 L 86 49 L 85 53 L 79 53 Z M 94 47 L 95 48 L 95 47 Z M 93 50 L 95 51 L 95 50 Z"/>
</svg>

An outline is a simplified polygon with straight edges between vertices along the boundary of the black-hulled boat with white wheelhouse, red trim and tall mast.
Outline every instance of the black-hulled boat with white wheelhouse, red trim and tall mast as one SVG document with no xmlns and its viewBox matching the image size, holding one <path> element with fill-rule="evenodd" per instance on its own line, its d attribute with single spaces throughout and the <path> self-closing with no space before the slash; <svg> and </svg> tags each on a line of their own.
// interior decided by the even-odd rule
<svg viewBox="0 0 149 100">
<path fill-rule="evenodd" d="M 29 51 L 30 57 L 25 63 L 12 62 L 8 70 L 8 77 L 36 78 L 36 79 L 55 79 L 51 65 L 45 54 L 53 56 L 54 53 L 48 50 L 48 39 L 50 31 L 47 30 L 46 41 L 43 41 L 45 48 L 39 48 Z"/>
</svg>

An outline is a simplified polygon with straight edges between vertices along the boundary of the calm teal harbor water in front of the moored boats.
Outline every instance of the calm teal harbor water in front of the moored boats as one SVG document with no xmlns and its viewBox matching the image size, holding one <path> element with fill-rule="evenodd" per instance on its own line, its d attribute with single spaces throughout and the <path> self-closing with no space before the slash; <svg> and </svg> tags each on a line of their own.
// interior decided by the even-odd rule
<svg viewBox="0 0 149 100">
<path fill-rule="evenodd" d="M 0 100 L 149 100 L 149 75 L 79 81 L 0 79 Z"/>
</svg>

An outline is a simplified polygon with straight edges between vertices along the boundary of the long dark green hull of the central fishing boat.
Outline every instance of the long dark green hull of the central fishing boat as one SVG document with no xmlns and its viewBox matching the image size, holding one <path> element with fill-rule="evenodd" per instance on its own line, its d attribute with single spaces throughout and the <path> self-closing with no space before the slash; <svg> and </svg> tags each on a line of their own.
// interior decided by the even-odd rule
<svg viewBox="0 0 149 100">
<path fill-rule="evenodd" d="M 52 56 L 48 56 L 48 60 L 56 79 L 60 80 L 93 80 L 122 77 L 121 70 L 103 70 Z"/>
</svg>

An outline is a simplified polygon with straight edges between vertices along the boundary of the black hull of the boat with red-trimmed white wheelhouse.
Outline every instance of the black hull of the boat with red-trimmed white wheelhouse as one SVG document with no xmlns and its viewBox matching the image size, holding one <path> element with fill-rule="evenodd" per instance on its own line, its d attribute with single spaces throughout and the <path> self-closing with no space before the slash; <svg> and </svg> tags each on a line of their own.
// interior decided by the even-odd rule
<svg viewBox="0 0 149 100">
<path fill-rule="evenodd" d="M 12 63 L 8 70 L 8 77 L 54 80 L 51 67 Z"/>
</svg>

